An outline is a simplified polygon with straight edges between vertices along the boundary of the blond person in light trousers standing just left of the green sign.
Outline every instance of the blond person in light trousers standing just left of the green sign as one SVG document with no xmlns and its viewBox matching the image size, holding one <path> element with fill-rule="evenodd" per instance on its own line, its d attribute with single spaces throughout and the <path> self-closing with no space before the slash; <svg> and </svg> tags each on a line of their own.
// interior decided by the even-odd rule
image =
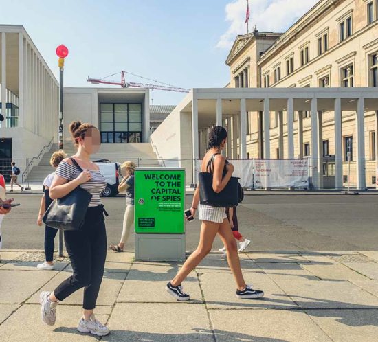
<svg viewBox="0 0 378 342">
<path fill-rule="evenodd" d="M 134 227 L 134 173 L 135 163 L 132 161 L 125 161 L 121 170 L 124 172 L 124 178 L 120 185 L 118 185 L 118 191 L 123 192 L 126 190 L 126 209 L 124 211 L 124 221 L 121 240 L 118 244 L 111 244 L 109 248 L 115 252 L 123 252 L 124 245 L 129 240 L 131 229 Z"/>
</svg>

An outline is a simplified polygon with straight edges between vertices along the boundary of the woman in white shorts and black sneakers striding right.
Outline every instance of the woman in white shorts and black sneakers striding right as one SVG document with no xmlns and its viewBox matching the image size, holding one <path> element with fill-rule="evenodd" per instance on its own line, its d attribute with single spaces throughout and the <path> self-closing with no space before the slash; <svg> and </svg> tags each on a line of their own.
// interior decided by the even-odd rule
<svg viewBox="0 0 378 342">
<path fill-rule="evenodd" d="M 201 171 L 212 172 L 212 188 L 214 192 L 221 192 L 234 172 L 234 166 L 226 163 L 221 151 L 225 147 L 227 140 L 227 131 L 221 126 L 212 128 L 209 135 L 208 152 L 202 160 Z M 210 170 L 209 170 L 210 166 Z M 260 290 L 254 290 L 252 286 L 245 284 L 241 265 L 238 256 L 236 241 L 232 235 L 230 223 L 225 214 L 225 208 L 212 207 L 210 205 L 199 204 L 199 187 L 194 192 L 192 207 L 190 211 L 192 216 L 195 215 L 198 208 L 199 219 L 202 220 L 201 233 L 197 249 L 189 256 L 179 273 L 166 285 L 167 292 L 175 297 L 178 301 L 188 301 L 190 296 L 184 293 L 181 282 L 183 282 L 189 273 L 205 258 L 212 249 L 212 243 L 216 233 L 219 234 L 223 244 L 227 249 L 227 260 L 234 279 L 236 281 L 236 296 L 243 299 L 252 299 L 263 297 L 264 293 Z M 188 219 L 188 218 L 187 218 Z"/>
</svg>

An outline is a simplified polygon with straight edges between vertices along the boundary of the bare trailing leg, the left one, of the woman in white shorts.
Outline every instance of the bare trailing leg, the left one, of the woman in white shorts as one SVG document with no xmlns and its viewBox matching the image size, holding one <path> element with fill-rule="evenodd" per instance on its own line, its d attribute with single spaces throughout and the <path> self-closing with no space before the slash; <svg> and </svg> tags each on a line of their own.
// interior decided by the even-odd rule
<svg viewBox="0 0 378 342">
<path fill-rule="evenodd" d="M 184 282 L 185 278 L 188 277 L 188 274 L 193 271 L 203 260 L 203 258 L 205 258 L 205 256 L 211 251 L 212 242 L 214 242 L 214 238 L 218 230 L 219 223 L 202 221 L 201 234 L 197 249 L 189 256 L 184 265 L 181 267 L 179 273 L 177 273 L 173 280 L 171 280 L 170 284 L 173 286 L 179 286 L 181 285 L 181 282 Z"/>
</svg>

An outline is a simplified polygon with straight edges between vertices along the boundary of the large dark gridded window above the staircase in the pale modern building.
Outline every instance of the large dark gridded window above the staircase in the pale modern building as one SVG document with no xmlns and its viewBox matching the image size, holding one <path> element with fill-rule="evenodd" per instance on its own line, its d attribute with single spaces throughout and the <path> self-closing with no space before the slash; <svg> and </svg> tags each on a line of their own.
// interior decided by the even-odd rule
<svg viewBox="0 0 378 342">
<path fill-rule="evenodd" d="M 100 104 L 100 131 L 103 143 L 142 141 L 142 105 Z"/>
</svg>

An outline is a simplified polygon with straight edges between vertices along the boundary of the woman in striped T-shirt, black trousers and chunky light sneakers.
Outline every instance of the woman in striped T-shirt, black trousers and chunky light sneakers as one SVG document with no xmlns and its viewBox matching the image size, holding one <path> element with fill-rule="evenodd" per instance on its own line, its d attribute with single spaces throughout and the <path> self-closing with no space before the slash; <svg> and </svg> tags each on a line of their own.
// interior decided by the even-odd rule
<svg viewBox="0 0 378 342">
<path fill-rule="evenodd" d="M 58 301 L 63 301 L 79 288 L 84 288 L 84 314 L 78 323 L 78 331 L 104 336 L 109 334 L 109 329 L 93 315 L 107 256 L 104 206 L 100 200 L 106 181 L 98 166 L 90 160 L 91 155 L 100 148 L 100 133 L 93 125 L 82 124 L 80 121 L 72 122 L 69 130 L 78 152 L 59 164 L 49 195 L 52 199 L 62 198 L 80 186 L 91 193 L 92 198 L 80 229 L 64 231 L 74 274 L 54 292 L 41 293 L 41 315 L 45 323 L 54 325 Z"/>
</svg>

